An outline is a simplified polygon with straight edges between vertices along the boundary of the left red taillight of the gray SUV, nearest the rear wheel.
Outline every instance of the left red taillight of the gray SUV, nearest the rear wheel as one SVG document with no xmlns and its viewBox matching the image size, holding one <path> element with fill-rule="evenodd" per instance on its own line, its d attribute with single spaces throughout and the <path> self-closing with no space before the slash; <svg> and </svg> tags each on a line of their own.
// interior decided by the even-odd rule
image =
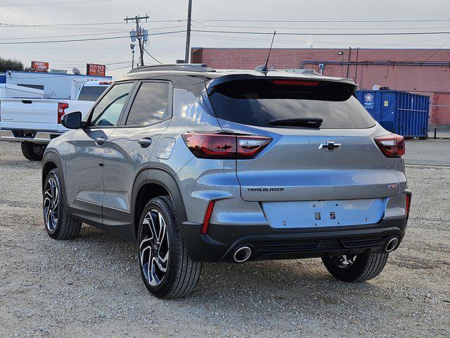
<svg viewBox="0 0 450 338">
<path fill-rule="evenodd" d="M 271 137 L 200 134 L 185 132 L 184 143 L 198 158 L 253 158 L 269 144 Z"/>
</svg>

